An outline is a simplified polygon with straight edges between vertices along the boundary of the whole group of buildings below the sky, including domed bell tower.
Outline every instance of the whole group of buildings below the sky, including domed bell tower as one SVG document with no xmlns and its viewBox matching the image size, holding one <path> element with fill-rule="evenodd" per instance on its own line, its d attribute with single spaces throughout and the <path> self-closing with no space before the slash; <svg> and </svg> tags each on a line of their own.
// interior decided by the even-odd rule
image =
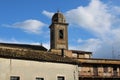
<svg viewBox="0 0 120 80">
<path fill-rule="evenodd" d="M 61 12 L 53 15 L 49 50 L 43 45 L 0 43 L 0 80 L 119 80 L 120 60 L 69 50 L 68 25 Z"/>
</svg>

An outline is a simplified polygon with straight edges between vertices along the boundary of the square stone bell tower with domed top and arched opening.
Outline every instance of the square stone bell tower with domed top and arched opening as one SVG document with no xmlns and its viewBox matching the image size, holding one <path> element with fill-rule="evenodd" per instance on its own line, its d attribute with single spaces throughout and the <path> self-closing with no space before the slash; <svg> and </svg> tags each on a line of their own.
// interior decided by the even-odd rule
<svg viewBox="0 0 120 80">
<path fill-rule="evenodd" d="M 50 49 L 68 50 L 68 23 L 59 11 L 52 16 L 50 28 Z"/>
</svg>

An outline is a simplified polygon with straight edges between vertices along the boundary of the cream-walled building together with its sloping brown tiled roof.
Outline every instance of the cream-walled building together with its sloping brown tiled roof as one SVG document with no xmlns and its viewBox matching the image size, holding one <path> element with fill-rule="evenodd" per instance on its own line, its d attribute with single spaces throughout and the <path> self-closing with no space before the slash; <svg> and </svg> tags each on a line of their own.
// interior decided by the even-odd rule
<svg viewBox="0 0 120 80">
<path fill-rule="evenodd" d="M 77 63 L 46 51 L 0 46 L 0 80 L 78 80 Z"/>
</svg>

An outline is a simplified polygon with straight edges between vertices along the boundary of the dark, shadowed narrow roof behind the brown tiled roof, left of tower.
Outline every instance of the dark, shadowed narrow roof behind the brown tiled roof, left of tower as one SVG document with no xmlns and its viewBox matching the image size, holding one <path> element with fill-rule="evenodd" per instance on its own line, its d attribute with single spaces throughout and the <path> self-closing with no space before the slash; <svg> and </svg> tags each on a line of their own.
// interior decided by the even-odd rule
<svg viewBox="0 0 120 80">
<path fill-rule="evenodd" d="M 4 47 L 13 47 L 13 48 L 25 48 L 25 49 L 32 49 L 32 50 L 41 50 L 47 51 L 45 47 L 42 45 L 28 45 L 28 44 L 13 44 L 13 43 L 0 43 L 0 46 Z"/>
</svg>

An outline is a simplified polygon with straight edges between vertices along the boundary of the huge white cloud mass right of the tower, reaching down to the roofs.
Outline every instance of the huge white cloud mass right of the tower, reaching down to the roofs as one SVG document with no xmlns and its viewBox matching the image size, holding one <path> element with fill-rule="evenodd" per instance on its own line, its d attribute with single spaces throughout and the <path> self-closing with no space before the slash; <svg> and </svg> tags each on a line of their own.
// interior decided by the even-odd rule
<svg viewBox="0 0 120 80">
<path fill-rule="evenodd" d="M 94 39 L 78 40 L 80 46 L 77 48 L 93 51 L 94 57 L 113 58 L 112 54 L 119 55 L 119 8 L 119 6 L 109 6 L 100 0 L 91 0 L 88 6 L 79 6 L 67 11 L 65 14 L 68 22 L 77 24 L 96 36 Z"/>
</svg>

